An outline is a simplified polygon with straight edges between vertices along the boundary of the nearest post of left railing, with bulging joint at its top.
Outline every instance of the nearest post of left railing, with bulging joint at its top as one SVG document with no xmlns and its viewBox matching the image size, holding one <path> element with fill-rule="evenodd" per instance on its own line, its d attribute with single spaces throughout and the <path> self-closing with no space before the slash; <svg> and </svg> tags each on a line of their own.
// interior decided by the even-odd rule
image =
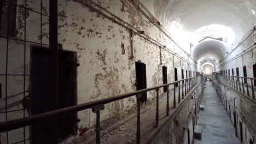
<svg viewBox="0 0 256 144">
<path fill-rule="evenodd" d="M 96 144 L 101 143 L 101 110 L 104 110 L 104 105 L 93 107 L 92 112 L 96 113 Z"/>
</svg>

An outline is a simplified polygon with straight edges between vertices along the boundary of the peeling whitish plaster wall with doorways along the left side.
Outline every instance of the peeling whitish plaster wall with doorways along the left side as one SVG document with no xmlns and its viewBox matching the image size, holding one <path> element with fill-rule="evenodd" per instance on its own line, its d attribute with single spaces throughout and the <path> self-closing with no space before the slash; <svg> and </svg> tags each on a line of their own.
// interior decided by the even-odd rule
<svg viewBox="0 0 256 144">
<path fill-rule="evenodd" d="M 147 87 L 162 84 L 164 65 L 167 67 L 168 82 L 174 81 L 174 67 L 178 69 L 178 80 L 181 80 L 181 69 L 184 69 L 184 77 L 185 69 L 197 71 L 195 63 L 184 51 L 159 31 L 130 1 L 92 2 L 59 1 L 59 43 L 63 45 L 63 49 L 77 52 L 80 64 L 77 74 L 78 104 L 136 91 L 135 62 L 138 61 L 147 65 Z M 18 4 L 24 6 L 23 1 Z M 40 1 L 28 1 L 27 7 L 40 12 Z M 48 1 L 43 1 L 42 23 L 40 14 L 32 10 L 27 10 L 25 14 L 24 8 L 18 8 L 19 31 L 15 38 L 19 40 L 0 39 L 3 47 L 0 50 L 0 82 L 3 87 L 2 95 L 6 93 L 8 98 L 6 106 L 4 99 L 0 101 L 3 108 L 1 122 L 29 115 L 23 109 L 21 100 L 30 91 L 31 46 L 42 44 L 48 47 L 49 44 L 48 7 Z M 144 31 L 144 34 L 138 34 L 137 30 Z M 26 43 L 22 41 L 24 39 Z M 7 86 L 4 84 L 6 77 Z M 161 90 L 160 95 L 162 94 Z M 148 93 L 149 103 L 154 97 L 155 92 Z M 118 121 L 127 113 L 132 113 L 131 107 L 135 104 L 135 97 L 107 104 L 101 119 Z M 8 107 L 7 111 L 20 111 L 8 112 L 5 115 L 5 107 Z M 95 125 L 96 115 L 91 110 L 78 112 L 78 118 L 78 133 Z M 27 127 L 25 130 L 21 128 L 9 132 L 8 137 L 2 133 L 1 142 L 6 143 L 7 139 L 13 143 L 21 141 L 24 131 L 28 139 L 30 131 Z"/>
</svg>

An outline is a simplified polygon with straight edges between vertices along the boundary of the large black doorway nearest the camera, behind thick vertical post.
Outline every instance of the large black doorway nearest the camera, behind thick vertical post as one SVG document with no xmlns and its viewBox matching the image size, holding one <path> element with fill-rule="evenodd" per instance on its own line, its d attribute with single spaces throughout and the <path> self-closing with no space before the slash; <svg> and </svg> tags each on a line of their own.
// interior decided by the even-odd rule
<svg viewBox="0 0 256 144">
<path fill-rule="evenodd" d="M 77 104 L 77 55 L 59 50 L 59 97 L 52 95 L 51 50 L 32 47 L 31 50 L 31 115 Z M 77 112 L 57 118 L 43 119 L 31 125 L 32 143 L 56 143 L 77 131 Z M 46 139 L 47 137 L 47 139 Z M 49 137 L 49 139 L 48 139 Z"/>
</svg>

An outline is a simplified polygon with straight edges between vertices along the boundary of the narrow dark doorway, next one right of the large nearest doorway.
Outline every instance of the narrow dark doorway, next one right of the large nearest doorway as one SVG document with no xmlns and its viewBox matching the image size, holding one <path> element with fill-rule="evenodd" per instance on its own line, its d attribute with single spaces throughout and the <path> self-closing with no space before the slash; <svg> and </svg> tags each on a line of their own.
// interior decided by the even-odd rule
<svg viewBox="0 0 256 144">
<path fill-rule="evenodd" d="M 135 63 L 136 69 L 136 89 L 147 88 L 146 64 L 141 62 Z M 142 93 L 141 102 L 147 101 L 147 92 Z"/>
</svg>

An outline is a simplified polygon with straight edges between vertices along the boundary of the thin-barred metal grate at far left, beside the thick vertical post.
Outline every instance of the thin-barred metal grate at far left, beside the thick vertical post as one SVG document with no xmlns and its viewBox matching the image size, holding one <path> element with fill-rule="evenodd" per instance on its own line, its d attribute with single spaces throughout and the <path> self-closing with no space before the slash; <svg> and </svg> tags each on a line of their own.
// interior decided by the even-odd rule
<svg viewBox="0 0 256 144">
<path fill-rule="evenodd" d="M 30 47 L 49 47 L 49 0 L 0 1 L 0 122 L 30 115 Z M 30 143 L 29 127 L 6 131 L 0 143 Z"/>
</svg>

